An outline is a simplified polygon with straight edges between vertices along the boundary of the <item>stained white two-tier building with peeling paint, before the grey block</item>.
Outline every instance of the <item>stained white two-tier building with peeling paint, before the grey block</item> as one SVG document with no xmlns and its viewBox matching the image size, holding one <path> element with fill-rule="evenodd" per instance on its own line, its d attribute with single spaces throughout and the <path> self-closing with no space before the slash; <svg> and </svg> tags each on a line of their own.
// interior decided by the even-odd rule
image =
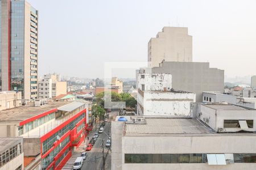
<svg viewBox="0 0 256 170">
<path fill-rule="evenodd" d="M 137 113 L 143 116 L 188 116 L 191 92 L 172 89 L 171 74 L 139 74 Z"/>
</svg>

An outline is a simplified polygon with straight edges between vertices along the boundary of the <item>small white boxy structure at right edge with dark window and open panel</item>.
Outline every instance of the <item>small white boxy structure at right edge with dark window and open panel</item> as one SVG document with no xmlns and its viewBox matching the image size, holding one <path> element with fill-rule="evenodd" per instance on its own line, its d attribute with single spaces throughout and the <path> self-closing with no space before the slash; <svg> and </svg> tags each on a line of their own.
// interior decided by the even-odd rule
<svg viewBox="0 0 256 170">
<path fill-rule="evenodd" d="M 193 103 L 193 117 L 218 133 L 256 131 L 256 110 L 227 103 Z"/>
</svg>

